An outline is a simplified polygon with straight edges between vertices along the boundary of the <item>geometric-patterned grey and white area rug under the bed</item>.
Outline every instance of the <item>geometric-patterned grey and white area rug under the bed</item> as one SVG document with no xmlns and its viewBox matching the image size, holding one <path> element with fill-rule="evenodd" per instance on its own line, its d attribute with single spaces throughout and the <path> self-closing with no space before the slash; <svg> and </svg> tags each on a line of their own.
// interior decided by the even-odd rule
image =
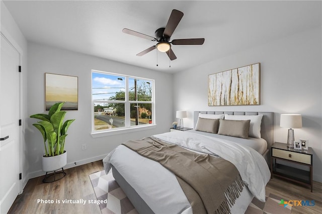
<svg viewBox="0 0 322 214">
<path fill-rule="evenodd" d="M 98 200 L 102 200 L 100 208 L 102 213 L 109 214 L 137 214 L 138 212 L 127 198 L 121 187 L 115 181 L 112 171 L 90 174 L 94 192 Z M 266 196 L 266 202 L 256 198 L 248 206 L 245 214 L 290 214 L 290 206 L 280 205 L 281 198 L 274 194 Z"/>
</svg>

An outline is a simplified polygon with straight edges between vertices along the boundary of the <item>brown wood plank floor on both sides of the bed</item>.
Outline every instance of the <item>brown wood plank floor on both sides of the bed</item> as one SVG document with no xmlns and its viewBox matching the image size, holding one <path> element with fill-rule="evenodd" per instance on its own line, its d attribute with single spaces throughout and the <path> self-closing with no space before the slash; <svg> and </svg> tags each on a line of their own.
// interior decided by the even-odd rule
<svg viewBox="0 0 322 214">
<path fill-rule="evenodd" d="M 8 213 L 101 213 L 97 204 L 63 204 L 56 199 L 96 200 L 89 175 L 103 170 L 102 161 L 66 169 L 67 175 L 53 183 L 43 183 L 42 177 L 30 179 L 21 195 L 18 195 Z M 266 186 L 266 192 L 278 195 L 285 201 L 314 200 L 314 206 L 293 206 L 292 214 L 322 213 L 322 183 L 313 183 L 313 193 L 308 187 L 274 177 Z M 38 203 L 38 199 L 54 203 Z"/>
</svg>

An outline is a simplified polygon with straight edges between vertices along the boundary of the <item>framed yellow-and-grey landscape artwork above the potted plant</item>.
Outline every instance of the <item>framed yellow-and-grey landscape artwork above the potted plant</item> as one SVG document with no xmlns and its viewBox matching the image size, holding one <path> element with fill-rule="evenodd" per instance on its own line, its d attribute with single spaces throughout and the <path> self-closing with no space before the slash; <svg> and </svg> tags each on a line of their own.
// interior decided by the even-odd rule
<svg viewBox="0 0 322 214">
<path fill-rule="evenodd" d="M 61 110 L 78 110 L 78 77 L 45 73 L 46 111 L 56 102 L 65 102 Z"/>
</svg>

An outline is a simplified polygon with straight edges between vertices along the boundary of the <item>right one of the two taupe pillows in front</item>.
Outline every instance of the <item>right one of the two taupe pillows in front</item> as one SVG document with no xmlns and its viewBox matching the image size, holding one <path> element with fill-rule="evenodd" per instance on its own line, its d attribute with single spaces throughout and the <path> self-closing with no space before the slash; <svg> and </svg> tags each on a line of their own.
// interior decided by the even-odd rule
<svg viewBox="0 0 322 214">
<path fill-rule="evenodd" d="M 234 121 L 220 119 L 218 134 L 248 139 L 248 133 L 250 131 L 250 122 L 251 120 Z"/>
</svg>

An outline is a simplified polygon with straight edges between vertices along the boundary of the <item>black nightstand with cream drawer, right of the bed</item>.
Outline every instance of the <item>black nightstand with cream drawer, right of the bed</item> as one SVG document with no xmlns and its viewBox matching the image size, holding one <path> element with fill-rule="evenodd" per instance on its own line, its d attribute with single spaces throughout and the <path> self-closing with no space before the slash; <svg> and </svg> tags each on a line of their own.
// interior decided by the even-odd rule
<svg viewBox="0 0 322 214">
<path fill-rule="evenodd" d="M 276 163 L 277 160 L 283 160 L 296 165 L 306 166 L 309 171 L 286 166 L 282 163 Z M 304 167 L 305 168 L 305 167 Z M 275 142 L 271 152 L 271 178 L 273 175 L 285 178 L 306 186 L 311 187 L 313 191 L 313 151 L 309 147 L 308 150 L 295 150 L 286 147 L 285 143 Z"/>
</svg>

